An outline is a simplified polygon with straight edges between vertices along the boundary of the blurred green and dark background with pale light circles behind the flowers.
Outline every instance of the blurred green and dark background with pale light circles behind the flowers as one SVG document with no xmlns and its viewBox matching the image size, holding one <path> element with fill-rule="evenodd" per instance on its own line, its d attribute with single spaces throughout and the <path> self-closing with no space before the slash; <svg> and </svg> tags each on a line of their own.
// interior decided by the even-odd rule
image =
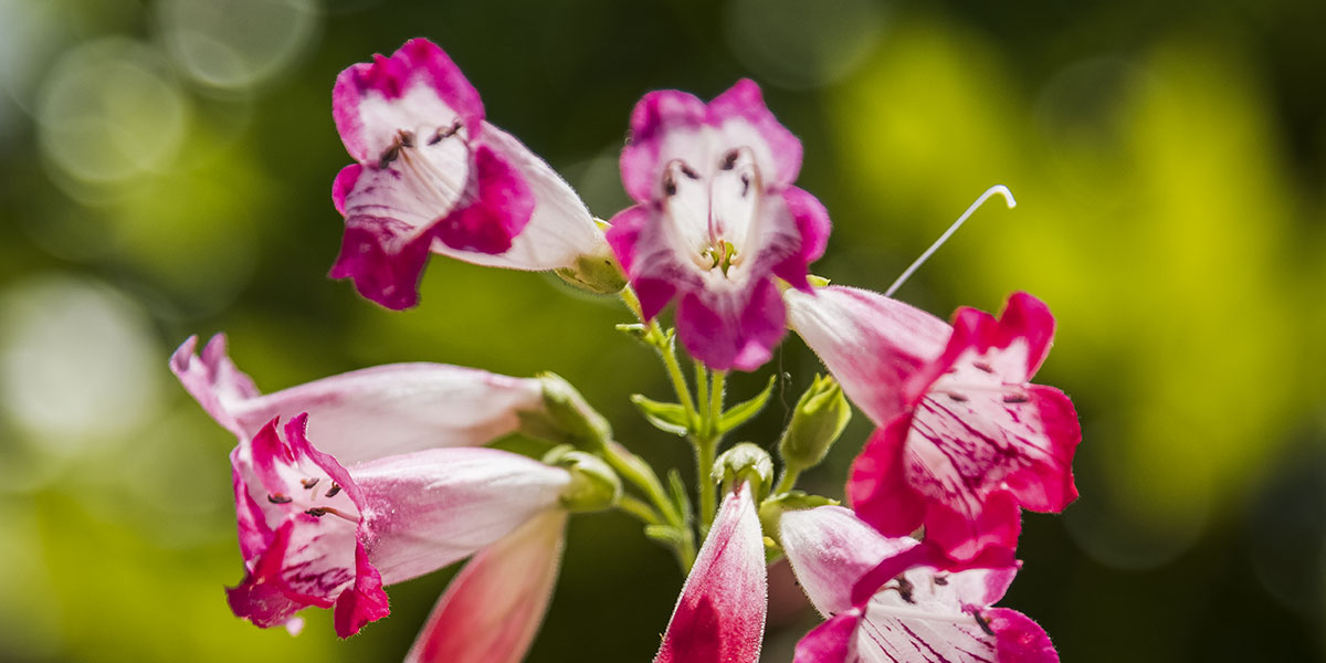
<svg viewBox="0 0 1326 663">
<path fill-rule="evenodd" d="M 554 370 L 619 439 L 690 473 L 630 392 L 667 382 L 614 300 L 435 260 L 390 313 L 325 273 L 349 158 L 345 66 L 426 36 L 488 117 L 607 217 L 650 89 L 758 81 L 805 143 L 834 236 L 814 271 L 883 289 L 988 186 L 899 297 L 947 317 L 1046 300 L 1040 382 L 1075 400 L 1081 500 L 1029 514 L 1005 605 L 1066 662 L 1322 660 L 1326 4 L 1231 0 L 0 0 L 0 659 L 398 660 L 451 572 L 338 642 L 233 618 L 227 452 L 166 370 L 224 330 L 274 391 L 375 363 Z M 776 442 L 818 369 L 789 339 Z M 854 420 L 808 488 L 841 495 Z M 765 660 L 817 618 L 774 570 Z M 574 518 L 533 662 L 648 660 L 682 578 L 617 513 Z"/>
</svg>

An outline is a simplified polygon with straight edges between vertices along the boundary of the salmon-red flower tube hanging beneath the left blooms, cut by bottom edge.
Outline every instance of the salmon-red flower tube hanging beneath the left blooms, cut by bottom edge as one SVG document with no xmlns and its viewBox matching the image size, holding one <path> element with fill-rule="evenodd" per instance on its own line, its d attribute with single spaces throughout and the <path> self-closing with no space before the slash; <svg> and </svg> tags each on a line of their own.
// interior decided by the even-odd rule
<svg viewBox="0 0 1326 663">
<path fill-rule="evenodd" d="M 549 511 L 479 553 L 438 599 L 406 663 L 518 663 L 553 597 L 566 512 Z"/>
</svg>

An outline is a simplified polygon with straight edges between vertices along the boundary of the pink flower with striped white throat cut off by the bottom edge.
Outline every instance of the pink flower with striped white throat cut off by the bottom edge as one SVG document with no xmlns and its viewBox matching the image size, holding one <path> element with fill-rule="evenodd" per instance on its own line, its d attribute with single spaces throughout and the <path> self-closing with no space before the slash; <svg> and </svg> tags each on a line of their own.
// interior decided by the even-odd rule
<svg viewBox="0 0 1326 663">
<path fill-rule="evenodd" d="M 780 530 L 827 619 L 797 644 L 794 663 L 1058 662 L 1036 622 L 991 607 L 1017 574 L 1013 561 L 948 573 L 926 561 L 923 544 L 880 536 L 841 507 L 786 512 Z"/>
</svg>

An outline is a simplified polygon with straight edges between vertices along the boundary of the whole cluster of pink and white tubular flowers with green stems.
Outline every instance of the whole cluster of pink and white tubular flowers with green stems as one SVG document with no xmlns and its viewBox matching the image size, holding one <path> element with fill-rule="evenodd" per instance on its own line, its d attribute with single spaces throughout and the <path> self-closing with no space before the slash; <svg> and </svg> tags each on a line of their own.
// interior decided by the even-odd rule
<svg viewBox="0 0 1326 663">
<path fill-rule="evenodd" d="M 794 186 L 801 143 L 754 82 L 708 103 L 646 94 L 621 156 L 634 206 L 610 223 L 487 122 L 427 40 L 342 72 L 333 117 L 354 163 L 332 187 L 345 217 L 332 276 L 403 309 L 440 253 L 619 294 L 636 316 L 619 329 L 658 351 L 676 389 L 676 402 L 633 402 L 695 447 L 697 504 L 552 374 L 408 363 L 264 395 L 223 335 L 200 351 L 190 338 L 171 369 L 237 439 L 236 615 L 297 633 L 300 610 L 330 607 L 350 636 L 390 613 L 383 587 L 472 557 L 408 660 L 517 662 L 549 605 L 568 517 L 619 509 L 687 573 L 658 663 L 756 662 L 765 569 L 780 556 L 826 619 L 797 646 L 798 663 L 1058 660 L 1036 622 L 992 607 L 1020 569 L 1021 511 L 1077 497 L 1077 414 L 1062 391 L 1029 382 L 1054 318 L 1026 293 L 997 318 L 963 308 L 949 324 L 813 285 L 829 215 Z M 761 446 L 719 455 L 770 395 L 725 408 L 724 381 L 764 366 L 788 329 L 830 377 L 794 407 L 774 481 Z M 693 392 L 674 338 L 695 363 Z M 846 481 L 850 508 L 796 489 L 841 436 L 849 400 L 876 426 Z M 513 432 L 545 440 L 546 453 L 488 447 Z"/>
</svg>

